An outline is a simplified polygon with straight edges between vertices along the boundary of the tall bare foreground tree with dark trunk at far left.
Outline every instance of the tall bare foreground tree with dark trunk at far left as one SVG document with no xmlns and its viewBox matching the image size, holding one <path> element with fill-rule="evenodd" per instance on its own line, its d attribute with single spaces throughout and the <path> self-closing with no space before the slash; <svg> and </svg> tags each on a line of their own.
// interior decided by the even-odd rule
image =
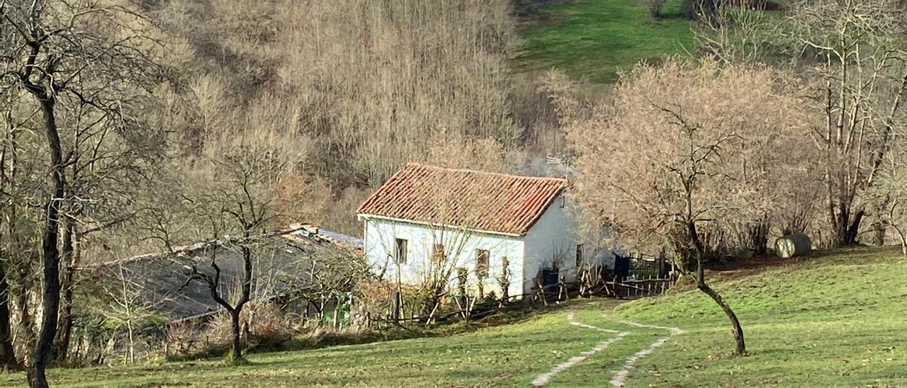
<svg viewBox="0 0 907 388">
<path fill-rule="evenodd" d="M 58 241 L 65 218 L 66 168 L 72 163 L 72 153 L 62 140 L 78 141 L 65 124 L 74 111 L 92 109 L 93 120 L 115 123 L 114 136 L 128 138 L 133 121 L 129 110 L 135 102 L 128 96 L 147 90 L 156 79 L 157 66 L 148 53 L 157 45 L 144 34 L 144 19 L 122 5 L 96 0 L 9 0 L 0 3 L 0 14 L 5 39 L 0 54 L 3 88 L 21 91 L 36 102 L 50 171 L 51 183 L 43 199 L 44 314 L 28 368 L 29 383 L 43 387 L 58 325 Z"/>
</svg>

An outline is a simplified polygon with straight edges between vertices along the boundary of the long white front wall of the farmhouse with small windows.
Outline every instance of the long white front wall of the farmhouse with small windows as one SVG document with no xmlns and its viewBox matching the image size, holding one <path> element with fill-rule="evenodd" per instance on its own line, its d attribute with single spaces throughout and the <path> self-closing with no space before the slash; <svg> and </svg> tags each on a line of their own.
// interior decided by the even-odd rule
<svg viewBox="0 0 907 388">
<path fill-rule="evenodd" d="M 523 240 L 518 237 L 478 233 L 416 224 L 386 218 L 363 217 L 365 223 L 366 261 L 377 274 L 385 279 L 395 280 L 397 268 L 402 283 L 420 284 L 433 271 L 432 254 L 435 244 L 444 245 L 447 266 L 463 267 L 468 272 L 468 285 L 473 289 L 481 281 L 486 294 L 502 295 L 499 278 L 504 271 L 503 258 L 507 258 L 511 296 L 523 293 L 522 261 Z M 397 266 L 395 262 L 396 239 L 406 240 L 406 263 Z M 478 250 L 489 253 L 488 274 L 480 279 L 476 273 Z M 452 271 L 451 286 L 457 285 L 456 271 Z"/>
</svg>

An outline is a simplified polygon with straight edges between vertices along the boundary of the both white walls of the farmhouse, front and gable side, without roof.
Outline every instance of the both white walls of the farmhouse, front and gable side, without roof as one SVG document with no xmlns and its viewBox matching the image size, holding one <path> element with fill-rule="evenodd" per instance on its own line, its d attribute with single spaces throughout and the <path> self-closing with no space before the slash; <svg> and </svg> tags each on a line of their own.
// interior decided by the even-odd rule
<svg viewBox="0 0 907 388">
<path fill-rule="evenodd" d="M 582 244 L 582 262 L 587 266 L 613 267 L 613 253 L 610 249 L 597 247 L 600 241 L 583 241 L 572 214 L 570 199 L 559 196 L 542 214 L 541 218 L 523 237 L 473 231 L 453 230 L 423 224 L 372 218 L 363 216 L 365 221 L 365 255 L 373 272 L 385 274 L 385 279 L 395 280 L 396 239 L 406 240 L 406 263 L 399 266 L 400 279 L 404 284 L 420 284 L 429 276 L 434 244 L 441 243 L 448 261 L 454 267 L 466 268 L 471 287 L 480 281 L 476 276 L 478 249 L 489 251 L 488 275 L 481 281 L 484 292 L 493 291 L 501 296 L 498 281 L 503 272 L 503 257 L 509 263 L 509 295 L 532 293 L 536 281 L 541 282 L 541 269 L 554 267 L 559 276 L 568 282 L 576 280 L 577 244 Z M 452 274 L 451 285 L 456 285 L 456 274 Z"/>
</svg>

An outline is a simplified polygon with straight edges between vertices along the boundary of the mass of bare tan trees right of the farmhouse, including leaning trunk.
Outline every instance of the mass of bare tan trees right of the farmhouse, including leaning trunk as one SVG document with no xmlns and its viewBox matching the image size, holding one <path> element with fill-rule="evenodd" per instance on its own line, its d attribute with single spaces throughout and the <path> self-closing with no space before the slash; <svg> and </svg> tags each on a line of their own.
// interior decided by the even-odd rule
<svg viewBox="0 0 907 388">
<path fill-rule="evenodd" d="M 631 246 L 672 248 L 745 354 L 705 260 L 762 255 L 769 235 L 805 230 L 819 247 L 853 245 L 870 215 L 873 239 L 893 228 L 907 255 L 905 24 L 902 5 L 887 0 L 793 2 L 785 25 L 711 6 L 699 40 L 714 60 L 641 65 L 567 131 L 587 215 Z"/>
</svg>

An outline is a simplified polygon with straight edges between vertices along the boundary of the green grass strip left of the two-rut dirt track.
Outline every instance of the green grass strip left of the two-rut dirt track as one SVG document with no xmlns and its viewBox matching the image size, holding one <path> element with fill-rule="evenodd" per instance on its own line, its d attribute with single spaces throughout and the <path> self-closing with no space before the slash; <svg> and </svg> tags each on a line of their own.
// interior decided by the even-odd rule
<svg viewBox="0 0 907 388">
<path fill-rule="evenodd" d="M 579 301 L 590 322 L 605 319 L 601 311 L 613 301 Z M 610 324 L 613 325 L 613 324 Z M 632 335 L 636 346 L 652 334 Z M 445 338 L 415 338 L 325 349 L 251 354 L 249 365 L 228 367 L 220 361 L 199 361 L 54 369 L 57 386 L 527 386 L 574 354 L 601 341 L 601 334 L 577 330 L 565 315 L 544 314 L 516 325 L 483 328 Z M 634 346 L 626 341 L 628 351 Z M 614 363 L 619 363 L 619 357 Z M 0 377 L 0 385 L 24 383 L 24 375 Z"/>
</svg>

